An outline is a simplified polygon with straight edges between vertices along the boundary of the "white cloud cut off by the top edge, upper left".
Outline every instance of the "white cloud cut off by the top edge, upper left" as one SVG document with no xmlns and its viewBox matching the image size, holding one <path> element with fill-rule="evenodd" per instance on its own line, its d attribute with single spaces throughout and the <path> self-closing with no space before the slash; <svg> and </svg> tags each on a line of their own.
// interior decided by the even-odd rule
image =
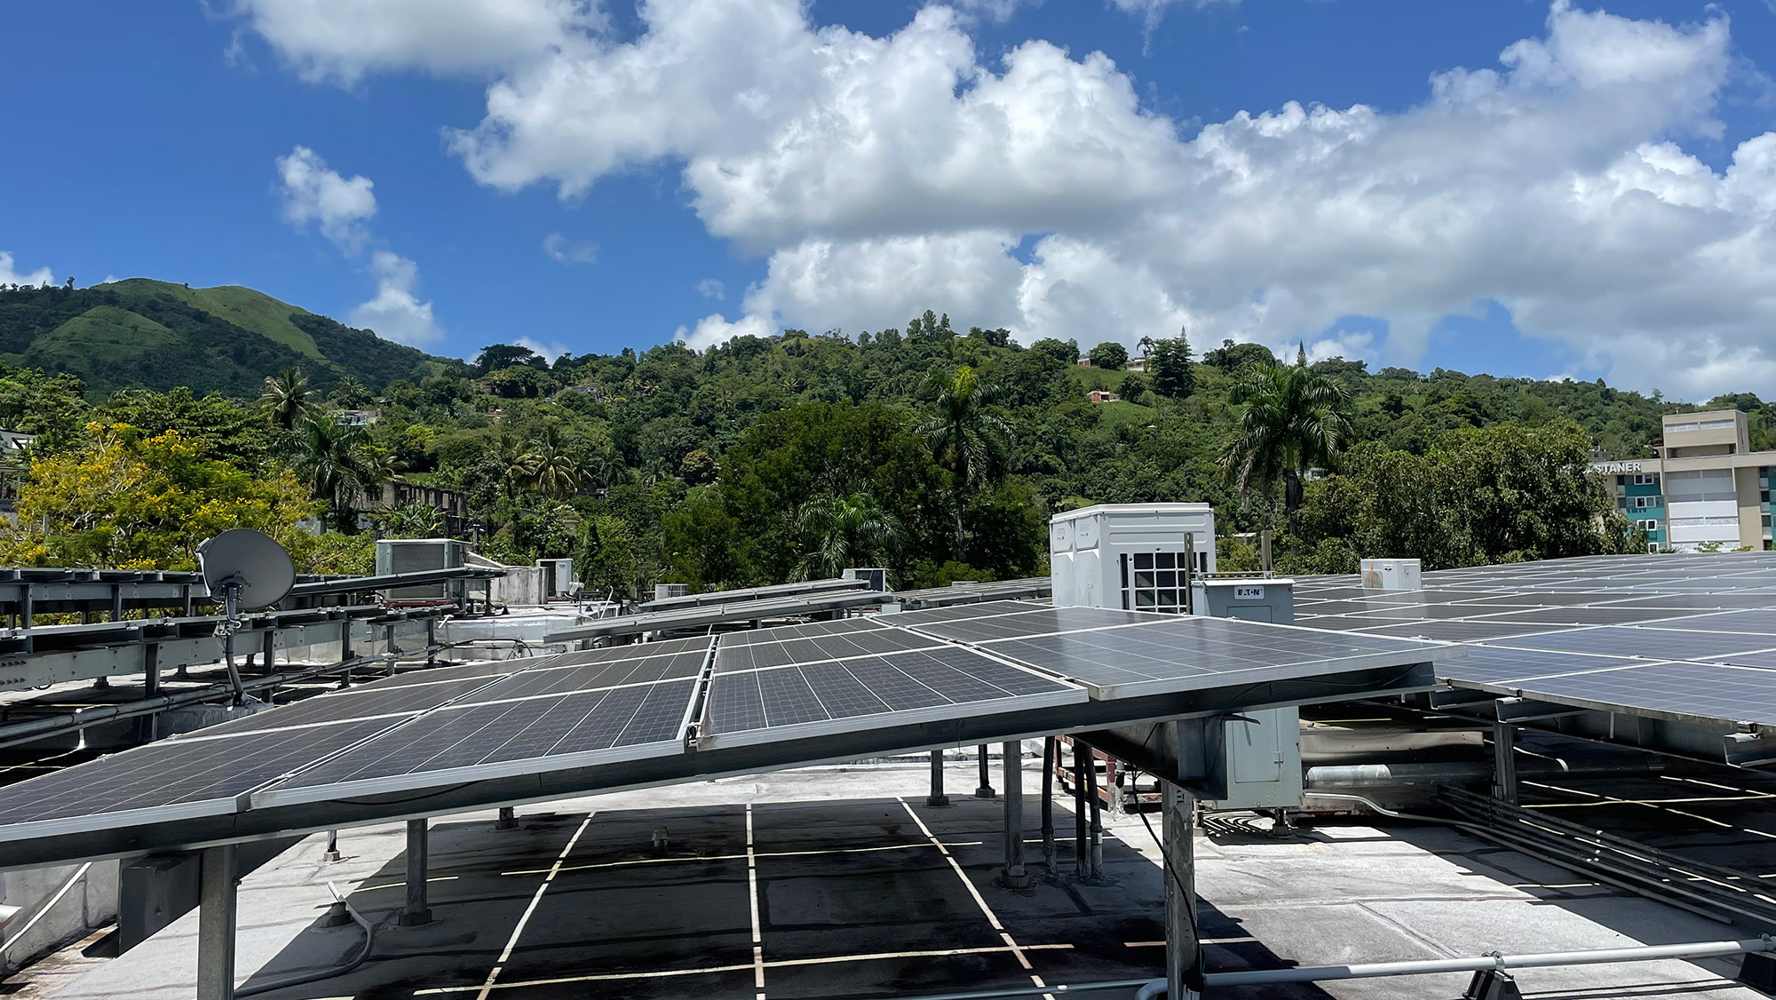
<svg viewBox="0 0 1776 1000">
<path fill-rule="evenodd" d="M 604 27 L 590 0 L 236 0 L 233 12 L 305 80 L 346 85 L 497 71 Z"/>
</svg>

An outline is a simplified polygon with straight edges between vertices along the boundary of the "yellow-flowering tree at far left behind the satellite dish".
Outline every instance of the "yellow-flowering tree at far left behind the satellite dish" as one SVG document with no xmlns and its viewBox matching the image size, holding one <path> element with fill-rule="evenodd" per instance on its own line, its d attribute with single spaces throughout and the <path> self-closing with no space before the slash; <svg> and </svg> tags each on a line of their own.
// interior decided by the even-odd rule
<svg viewBox="0 0 1776 1000">
<path fill-rule="evenodd" d="M 254 528 L 307 568 L 318 538 L 302 522 L 320 508 L 289 469 L 247 471 L 172 430 L 91 423 L 85 446 L 30 464 L 0 565 L 190 570 L 199 542 Z"/>
</svg>

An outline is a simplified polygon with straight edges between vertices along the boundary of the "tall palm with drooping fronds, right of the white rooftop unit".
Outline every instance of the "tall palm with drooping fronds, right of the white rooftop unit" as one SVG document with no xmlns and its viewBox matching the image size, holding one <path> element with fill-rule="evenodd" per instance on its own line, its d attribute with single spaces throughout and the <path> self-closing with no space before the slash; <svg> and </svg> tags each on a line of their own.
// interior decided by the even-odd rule
<svg viewBox="0 0 1776 1000">
<path fill-rule="evenodd" d="M 1240 371 L 1227 394 L 1243 403 L 1240 433 L 1222 451 L 1220 467 L 1240 494 L 1254 488 L 1272 494 L 1282 481 L 1282 508 L 1295 529 L 1295 512 L 1302 506 L 1302 476 L 1309 469 L 1330 469 L 1352 437 L 1344 416 L 1344 389 L 1307 368 L 1307 348 L 1295 364 L 1263 361 Z"/>
</svg>

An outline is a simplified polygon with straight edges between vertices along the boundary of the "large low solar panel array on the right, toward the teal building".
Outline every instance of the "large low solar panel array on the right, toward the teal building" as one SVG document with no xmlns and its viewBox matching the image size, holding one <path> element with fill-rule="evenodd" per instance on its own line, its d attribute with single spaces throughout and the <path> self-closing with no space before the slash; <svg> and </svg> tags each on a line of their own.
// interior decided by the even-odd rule
<svg viewBox="0 0 1776 1000">
<path fill-rule="evenodd" d="M 1298 577 L 1295 622 L 1463 641 L 1458 687 L 1776 725 L 1776 552 L 1588 556 L 1424 574 L 1424 590 Z"/>
</svg>

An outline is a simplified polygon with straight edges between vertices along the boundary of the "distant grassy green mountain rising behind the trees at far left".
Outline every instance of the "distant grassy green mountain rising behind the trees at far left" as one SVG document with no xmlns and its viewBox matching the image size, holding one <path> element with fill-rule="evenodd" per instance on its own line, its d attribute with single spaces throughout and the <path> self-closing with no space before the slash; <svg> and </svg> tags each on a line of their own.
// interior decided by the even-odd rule
<svg viewBox="0 0 1776 1000">
<path fill-rule="evenodd" d="M 94 288 L 0 290 L 0 361 L 76 375 L 94 398 L 117 389 L 254 396 L 297 366 L 320 389 L 419 380 L 462 362 L 432 357 L 240 286 L 135 277 Z"/>
</svg>

